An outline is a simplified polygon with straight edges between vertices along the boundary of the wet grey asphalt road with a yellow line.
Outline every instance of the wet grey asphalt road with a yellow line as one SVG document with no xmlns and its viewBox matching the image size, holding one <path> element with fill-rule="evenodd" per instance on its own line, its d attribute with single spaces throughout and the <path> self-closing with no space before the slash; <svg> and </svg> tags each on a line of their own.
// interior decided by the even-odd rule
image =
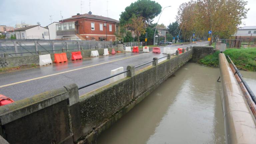
<svg viewBox="0 0 256 144">
<path fill-rule="evenodd" d="M 180 46 L 170 45 L 167 47 L 177 49 L 207 44 L 208 42 L 198 42 L 196 44 Z M 163 51 L 163 47 L 161 47 L 161 51 Z M 76 83 L 78 87 L 80 87 L 110 76 L 110 71 L 118 67 L 124 67 L 125 70 L 128 65 L 137 66 L 151 61 L 154 57 L 159 58 L 163 56 L 166 55 L 152 52 L 120 53 L 3 73 L 0 74 L 0 94 L 17 101 L 71 83 Z M 161 59 L 161 61 L 162 60 L 164 59 Z M 149 65 L 151 64 L 136 68 L 136 71 Z M 108 83 L 109 79 L 81 89 L 79 90 L 79 95 L 88 93 Z"/>
</svg>

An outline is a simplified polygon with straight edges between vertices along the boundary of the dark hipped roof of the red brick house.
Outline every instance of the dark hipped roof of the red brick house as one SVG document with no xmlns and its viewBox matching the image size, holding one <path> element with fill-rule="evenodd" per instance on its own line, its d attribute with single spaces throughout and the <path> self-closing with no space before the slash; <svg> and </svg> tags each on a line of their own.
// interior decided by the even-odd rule
<svg viewBox="0 0 256 144">
<path fill-rule="evenodd" d="M 82 14 L 82 15 L 75 15 L 75 16 L 72 16 L 71 18 L 64 19 L 63 21 L 79 19 L 79 18 L 87 18 L 87 19 L 94 19 L 94 20 L 102 20 L 102 21 L 119 23 L 118 20 L 115 20 L 115 19 L 112 19 L 112 18 L 98 16 L 98 15 L 92 15 L 92 14 L 87 14 L 87 13 Z M 60 21 L 62 21 L 62 20 L 60 20 Z"/>
</svg>

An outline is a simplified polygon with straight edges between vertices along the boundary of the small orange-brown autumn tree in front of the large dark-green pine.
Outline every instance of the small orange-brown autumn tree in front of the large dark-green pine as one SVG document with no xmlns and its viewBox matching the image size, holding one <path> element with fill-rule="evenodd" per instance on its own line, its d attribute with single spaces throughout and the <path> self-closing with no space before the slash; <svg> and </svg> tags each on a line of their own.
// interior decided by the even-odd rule
<svg viewBox="0 0 256 144">
<path fill-rule="evenodd" d="M 126 25 L 126 27 L 129 30 L 134 31 L 134 33 L 137 35 L 138 41 L 139 41 L 139 37 L 141 34 L 145 34 L 145 24 L 143 22 L 143 17 L 142 16 L 135 16 L 133 15 L 133 17 L 130 19 L 129 23 Z"/>
</svg>

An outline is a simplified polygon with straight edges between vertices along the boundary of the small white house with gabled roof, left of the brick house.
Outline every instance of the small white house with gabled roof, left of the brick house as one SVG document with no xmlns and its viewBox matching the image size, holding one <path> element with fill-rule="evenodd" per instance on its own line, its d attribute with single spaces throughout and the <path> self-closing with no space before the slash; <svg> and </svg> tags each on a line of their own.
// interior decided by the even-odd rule
<svg viewBox="0 0 256 144">
<path fill-rule="evenodd" d="M 14 30 L 16 39 L 45 39 L 49 40 L 49 31 L 40 25 L 32 25 Z"/>
</svg>

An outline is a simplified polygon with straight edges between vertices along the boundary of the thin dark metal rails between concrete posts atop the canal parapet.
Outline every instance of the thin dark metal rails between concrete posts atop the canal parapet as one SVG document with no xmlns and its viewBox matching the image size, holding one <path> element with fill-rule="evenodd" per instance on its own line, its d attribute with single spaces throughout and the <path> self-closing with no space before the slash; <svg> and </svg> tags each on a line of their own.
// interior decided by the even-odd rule
<svg viewBox="0 0 256 144">
<path fill-rule="evenodd" d="M 180 50 L 180 51 L 182 51 L 182 50 Z M 172 53 L 172 54 L 170 54 L 170 55 L 174 55 L 174 54 L 176 54 L 177 52 L 179 53 L 180 51 L 176 50 L 175 53 Z M 162 59 L 162 58 L 165 58 L 165 57 L 168 57 L 168 55 L 167 55 L 167 56 L 164 56 L 164 57 L 161 57 L 161 58 L 158 58 L 158 59 Z M 141 64 L 141 65 L 135 66 L 134 68 L 138 68 L 138 67 L 141 67 L 141 66 L 143 66 L 143 65 L 149 64 L 149 63 L 151 63 L 151 62 L 154 62 L 155 60 L 156 60 L 156 59 L 153 58 L 152 61 L 149 61 L 149 62 L 143 63 L 143 64 Z M 83 89 L 83 88 L 86 88 L 86 87 L 91 86 L 91 85 L 93 85 L 93 84 L 102 82 L 102 81 L 104 81 L 104 80 L 110 79 L 110 78 L 112 78 L 112 77 L 118 76 L 118 75 L 120 75 L 120 74 L 126 73 L 126 72 L 128 72 L 128 71 L 130 71 L 130 70 L 125 70 L 125 71 L 123 71 L 123 72 L 120 72 L 120 73 L 111 75 L 111 76 L 109 76 L 109 77 L 106 77 L 106 78 L 104 78 L 104 79 L 98 80 L 98 81 L 96 81 L 96 82 L 92 82 L 92 83 L 87 84 L 87 85 L 85 85 L 85 86 L 79 87 L 78 90 Z"/>
</svg>

